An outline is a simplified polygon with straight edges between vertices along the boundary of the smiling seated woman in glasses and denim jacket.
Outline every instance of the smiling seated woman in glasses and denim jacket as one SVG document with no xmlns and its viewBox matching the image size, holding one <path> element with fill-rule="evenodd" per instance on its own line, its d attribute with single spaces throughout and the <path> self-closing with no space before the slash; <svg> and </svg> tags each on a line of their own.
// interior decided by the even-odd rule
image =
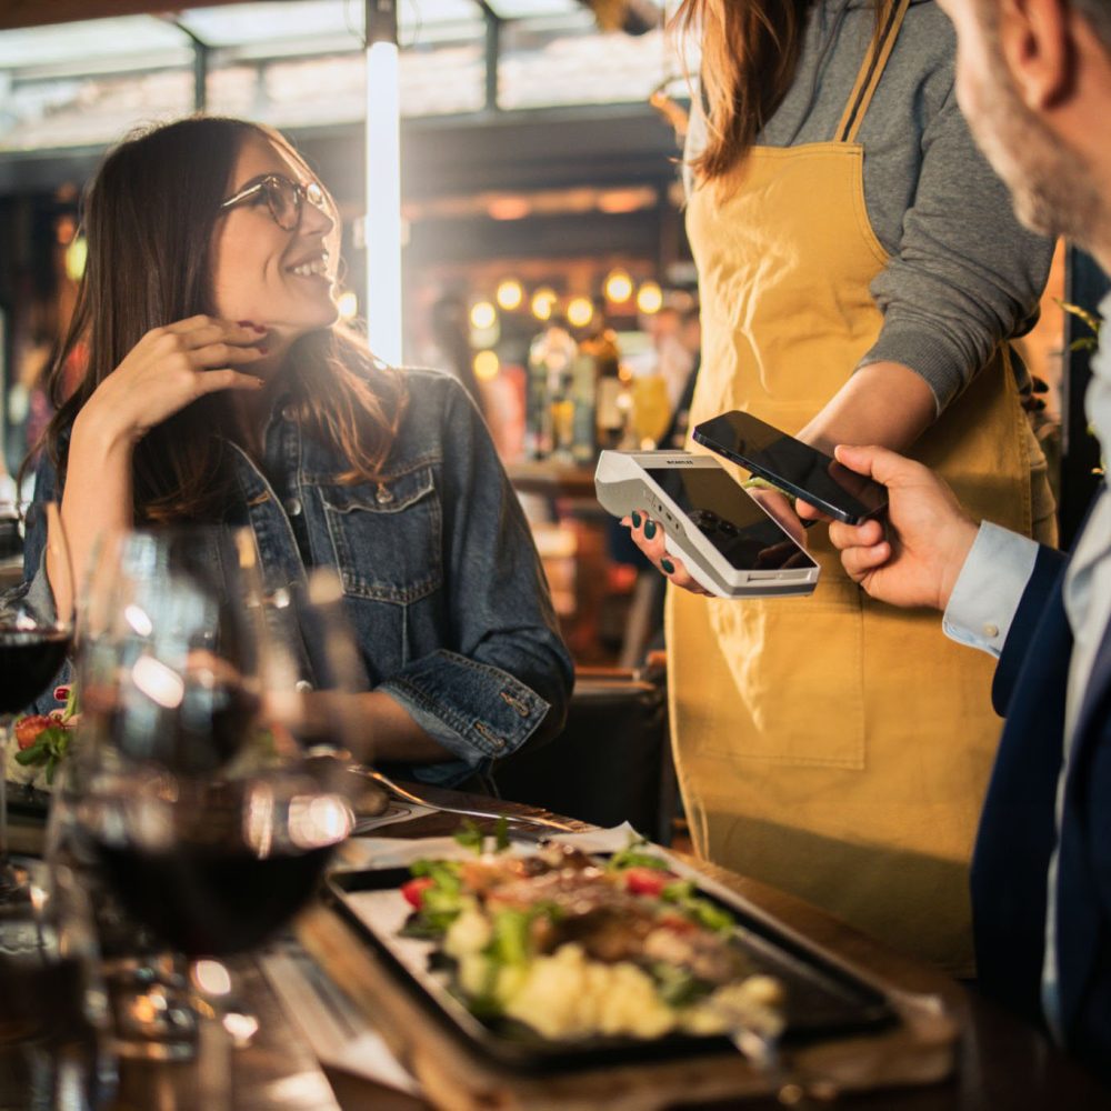
<svg viewBox="0 0 1111 1111">
<path fill-rule="evenodd" d="M 36 489 L 61 491 L 78 581 L 106 529 L 250 526 L 268 588 L 338 570 L 379 759 L 453 783 L 557 732 L 571 662 L 486 427 L 453 378 L 387 367 L 337 323 L 336 209 L 290 144 L 206 117 L 142 132 L 106 158 L 84 228 Z"/>
</svg>

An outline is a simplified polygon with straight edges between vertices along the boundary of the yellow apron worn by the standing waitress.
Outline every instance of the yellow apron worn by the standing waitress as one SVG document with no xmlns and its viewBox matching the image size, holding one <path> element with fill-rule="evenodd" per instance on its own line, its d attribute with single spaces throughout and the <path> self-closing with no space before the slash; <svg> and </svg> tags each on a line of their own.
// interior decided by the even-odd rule
<svg viewBox="0 0 1111 1111">
<path fill-rule="evenodd" d="M 869 284 L 888 256 L 855 136 L 907 6 L 870 46 L 835 141 L 757 147 L 693 192 L 703 353 L 691 426 L 743 409 L 795 432 L 875 341 Z M 977 518 L 1029 536 L 1025 437 L 1004 347 L 913 454 Z M 968 863 L 1000 731 L 993 662 L 947 640 L 935 612 L 864 595 L 824 527 L 810 546 L 822 569 L 810 598 L 669 589 L 672 739 L 695 848 L 968 973 Z"/>
</svg>

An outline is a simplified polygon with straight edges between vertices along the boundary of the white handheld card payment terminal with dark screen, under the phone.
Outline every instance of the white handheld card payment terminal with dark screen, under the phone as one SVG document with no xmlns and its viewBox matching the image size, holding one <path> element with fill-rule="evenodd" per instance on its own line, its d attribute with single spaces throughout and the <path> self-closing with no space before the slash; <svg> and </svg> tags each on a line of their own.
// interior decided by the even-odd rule
<svg viewBox="0 0 1111 1111">
<path fill-rule="evenodd" d="M 594 473 L 614 517 L 643 510 L 663 526 L 665 550 L 718 598 L 810 594 L 819 567 L 712 456 L 603 451 Z"/>
</svg>

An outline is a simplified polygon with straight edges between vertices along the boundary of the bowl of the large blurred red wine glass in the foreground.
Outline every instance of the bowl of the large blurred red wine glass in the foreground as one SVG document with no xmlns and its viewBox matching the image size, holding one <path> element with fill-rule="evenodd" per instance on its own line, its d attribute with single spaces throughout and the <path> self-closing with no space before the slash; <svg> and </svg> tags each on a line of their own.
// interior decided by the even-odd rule
<svg viewBox="0 0 1111 1111">
<path fill-rule="evenodd" d="M 268 603 L 256 563 L 249 532 L 118 538 L 82 641 L 78 824 L 198 984 L 213 982 L 208 959 L 254 948 L 312 895 L 353 823 L 346 764 L 304 748 L 343 733 L 328 699 L 342 667 L 303 690 L 311 600 Z"/>
</svg>

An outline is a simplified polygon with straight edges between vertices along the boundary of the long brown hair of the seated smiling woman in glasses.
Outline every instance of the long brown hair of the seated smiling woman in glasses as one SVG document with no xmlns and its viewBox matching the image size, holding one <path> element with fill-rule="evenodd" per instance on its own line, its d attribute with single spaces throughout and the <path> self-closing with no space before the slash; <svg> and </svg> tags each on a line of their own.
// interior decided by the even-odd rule
<svg viewBox="0 0 1111 1111">
<path fill-rule="evenodd" d="M 133 132 L 101 163 L 83 201 L 84 278 L 47 378 L 56 413 L 40 446 L 60 477 L 73 420 L 139 340 L 152 328 L 216 314 L 212 230 L 240 149 L 252 136 L 309 173 L 277 131 L 206 116 Z M 67 396 L 67 367 L 84 357 L 81 381 Z M 302 337 L 289 359 L 290 389 L 310 434 L 344 460 L 337 479 L 379 478 L 406 408 L 400 372 L 339 326 Z M 147 433 L 132 466 L 137 521 L 222 516 L 234 481 L 230 419 L 227 399 L 209 394 Z"/>
</svg>

